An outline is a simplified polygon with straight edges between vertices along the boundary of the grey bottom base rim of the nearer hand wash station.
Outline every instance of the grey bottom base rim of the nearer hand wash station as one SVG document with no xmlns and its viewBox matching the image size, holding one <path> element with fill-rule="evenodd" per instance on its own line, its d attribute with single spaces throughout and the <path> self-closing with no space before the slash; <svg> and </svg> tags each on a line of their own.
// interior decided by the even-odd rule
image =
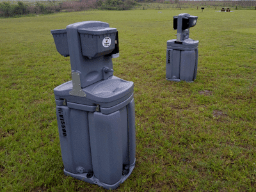
<svg viewBox="0 0 256 192">
<path fill-rule="evenodd" d="M 88 173 L 70 173 L 64 169 L 64 174 L 67 176 L 74 177 L 79 180 L 83 180 L 90 184 L 97 184 L 98 186 L 101 186 L 102 188 L 105 188 L 105 189 L 116 189 L 116 188 L 118 188 L 118 186 L 120 184 L 122 184 L 131 175 L 132 170 L 135 167 L 135 162 L 136 162 L 136 159 L 134 159 L 134 163 L 129 165 L 129 173 L 127 173 L 126 175 L 122 175 L 121 179 L 118 180 L 118 182 L 116 182 L 115 184 L 106 184 L 104 182 L 100 182 L 99 179 L 97 179 L 94 175 L 90 175 L 90 173 L 89 173 L 90 177 L 87 177 Z"/>
</svg>

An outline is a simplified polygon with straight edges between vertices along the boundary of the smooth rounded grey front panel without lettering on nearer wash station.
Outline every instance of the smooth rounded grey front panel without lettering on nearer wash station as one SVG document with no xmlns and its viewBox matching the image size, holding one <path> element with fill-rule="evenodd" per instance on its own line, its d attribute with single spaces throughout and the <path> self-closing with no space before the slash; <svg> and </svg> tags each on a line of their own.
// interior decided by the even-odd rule
<svg viewBox="0 0 256 192">
<path fill-rule="evenodd" d="M 115 184 L 122 177 L 122 124 L 120 111 L 89 113 L 93 173 L 101 182 Z"/>
</svg>

